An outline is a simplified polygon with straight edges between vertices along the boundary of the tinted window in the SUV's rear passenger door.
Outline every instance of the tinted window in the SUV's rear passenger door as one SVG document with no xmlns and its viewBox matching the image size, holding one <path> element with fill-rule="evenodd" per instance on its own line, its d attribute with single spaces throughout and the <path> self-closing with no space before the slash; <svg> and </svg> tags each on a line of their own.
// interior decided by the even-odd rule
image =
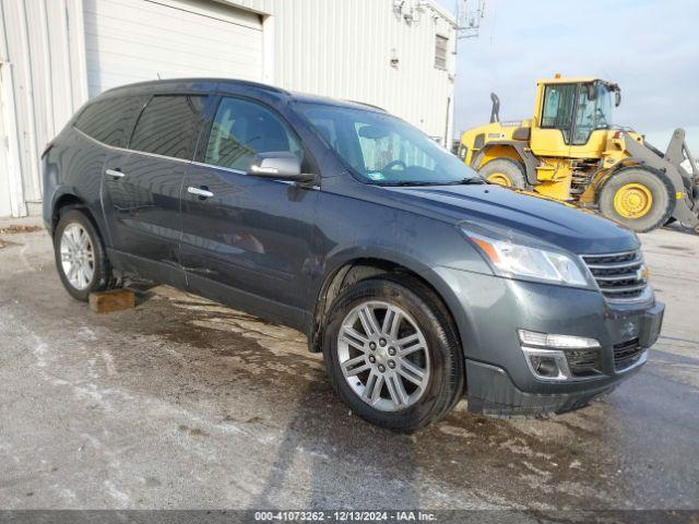
<svg viewBox="0 0 699 524">
<path fill-rule="evenodd" d="M 203 96 L 154 96 L 139 118 L 129 148 L 191 159 Z"/>
</svg>

